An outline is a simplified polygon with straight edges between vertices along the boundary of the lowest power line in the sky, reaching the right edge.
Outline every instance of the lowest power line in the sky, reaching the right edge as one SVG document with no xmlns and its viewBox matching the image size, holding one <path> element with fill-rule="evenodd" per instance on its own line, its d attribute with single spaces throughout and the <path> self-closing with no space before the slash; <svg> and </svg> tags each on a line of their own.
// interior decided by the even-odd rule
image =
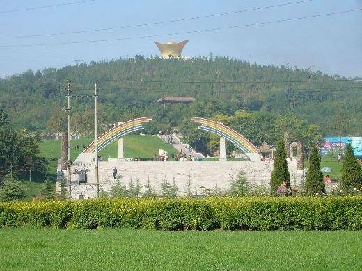
<svg viewBox="0 0 362 271">
<path fill-rule="evenodd" d="M 278 22 L 291 22 L 291 21 L 297 21 L 297 20 L 301 20 L 301 19 L 310 19 L 310 18 L 316 18 L 316 17 L 324 17 L 324 16 L 352 13 L 352 12 L 361 11 L 361 10 L 362 10 L 362 8 L 358 8 L 358 9 L 355 9 L 355 10 L 338 11 L 336 13 L 324 13 L 324 14 L 310 15 L 310 16 L 304 16 L 304 17 L 295 17 L 295 18 L 290 18 L 290 19 L 278 19 L 278 20 L 269 21 L 269 22 L 260 22 L 260 23 L 253 23 L 253 24 L 239 24 L 239 25 L 235 25 L 235 26 L 200 29 L 200 30 L 193 30 L 193 31 L 178 32 L 178 33 L 166 33 L 166 34 L 157 34 L 157 35 L 143 35 L 143 36 L 136 36 L 136 37 L 129 37 L 129 38 L 116 38 L 116 39 L 105 39 L 105 40 L 81 40 L 81 41 L 77 41 L 77 42 L 52 42 L 52 43 L 38 43 L 38 44 L 9 44 L 9 45 L 0 45 L 0 48 L 52 46 L 52 45 L 66 45 L 66 44 L 84 44 L 84 43 L 94 43 L 94 42 L 115 42 L 115 41 L 120 41 L 120 40 L 135 40 L 135 39 L 141 39 L 141 38 L 155 38 L 155 37 L 164 37 L 164 36 L 168 36 L 168 35 L 183 35 L 183 34 L 191 34 L 191 33 L 221 31 L 221 30 L 226 30 L 226 29 L 249 27 L 249 26 L 261 26 L 261 25 L 265 25 L 265 24 L 275 24 L 275 23 L 278 23 Z"/>
</svg>

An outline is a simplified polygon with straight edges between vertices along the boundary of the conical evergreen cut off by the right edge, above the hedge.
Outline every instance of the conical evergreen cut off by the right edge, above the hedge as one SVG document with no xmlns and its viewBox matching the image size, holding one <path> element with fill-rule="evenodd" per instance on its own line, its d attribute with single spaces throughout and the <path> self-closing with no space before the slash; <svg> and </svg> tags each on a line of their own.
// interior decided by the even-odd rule
<svg viewBox="0 0 362 271">
<path fill-rule="evenodd" d="M 340 187 L 350 189 L 362 186 L 362 170 L 361 165 L 354 156 L 352 146 L 347 145 L 345 150 L 345 161 L 342 165 L 342 176 L 340 178 Z"/>
</svg>

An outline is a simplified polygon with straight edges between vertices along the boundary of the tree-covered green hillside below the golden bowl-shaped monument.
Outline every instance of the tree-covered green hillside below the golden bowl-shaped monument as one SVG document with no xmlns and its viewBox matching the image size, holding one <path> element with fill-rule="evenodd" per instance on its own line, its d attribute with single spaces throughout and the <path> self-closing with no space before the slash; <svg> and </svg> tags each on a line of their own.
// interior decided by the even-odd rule
<svg viewBox="0 0 362 271">
<path fill-rule="evenodd" d="M 231 116 L 245 110 L 270 113 L 272 120 L 297 117 L 319 126 L 322 135 L 362 133 L 361 80 L 226 57 L 163 60 L 136 56 L 28 71 L 1 79 L 0 106 L 18 127 L 54 130 L 65 107 L 65 81 L 71 80 L 72 129 L 91 131 L 96 79 L 100 124 L 152 115 L 157 122 L 148 129 L 156 131 L 178 126 L 191 115 Z M 190 95 L 196 102 L 191 106 L 157 104 L 164 95 Z"/>
</svg>

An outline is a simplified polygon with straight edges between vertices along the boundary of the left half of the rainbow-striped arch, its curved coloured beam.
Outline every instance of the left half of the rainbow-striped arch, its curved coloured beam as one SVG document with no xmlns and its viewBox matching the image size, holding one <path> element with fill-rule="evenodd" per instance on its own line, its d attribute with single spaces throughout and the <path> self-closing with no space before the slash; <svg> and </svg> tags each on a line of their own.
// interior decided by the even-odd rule
<svg viewBox="0 0 362 271">
<path fill-rule="evenodd" d="M 114 140 L 127 135 L 127 133 L 132 133 L 134 131 L 139 131 L 145 128 L 142 124 L 145 122 L 149 122 L 152 120 L 152 117 L 139 117 L 138 119 L 129 120 L 127 122 L 123 122 L 117 126 L 114 126 L 112 129 L 109 129 L 107 132 L 102 133 L 101 136 L 98 137 L 98 151 L 102 151 L 104 147 L 109 145 Z M 86 149 L 84 149 L 83 153 L 90 154 L 95 152 L 95 143 L 94 141 L 89 145 Z"/>
</svg>

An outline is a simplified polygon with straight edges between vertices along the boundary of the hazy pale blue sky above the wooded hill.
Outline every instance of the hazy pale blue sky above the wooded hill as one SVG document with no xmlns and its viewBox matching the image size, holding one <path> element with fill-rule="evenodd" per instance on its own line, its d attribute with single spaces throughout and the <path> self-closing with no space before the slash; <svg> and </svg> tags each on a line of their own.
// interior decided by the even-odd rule
<svg viewBox="0 0 362 271">
<path fill-rule="evenodd" d="M 0 1 L 0 76 L 28 69 L 76 65 L 79 61 L 160 56 L 152 42 L 189 40 L 183 56 L 229 56 L 260 65 L 287 65 L 326 74 L 362 77 L 362 10 L 289 22 L 260 24 L 362 9 L 362 0 Z M 74 3 L 81 2 L 81 3 Z M 48 8 L 41 6 L 61 5 Z M 29 9 L 28 9 L 29 8 Z M 24 10 L 26 9 L 26 10 Z M 19 11 L 12 11 L 19 10 Z M 190 17 L 182 22 L 122 28 Z M 259 24 L 254 26 L 243 26 Z M 228 28 L 230 26 L 242 26 Z M 107 31 L 15 38 L 100 28 Z M 213 28 L 218 31 L 185 33 Z M 225 29 L 226 28 L 226 29 Z M 176 35 L 164 35 L 183 33 Z M 159 35 L 149 38 L 144 36 Z M 117 40 L 118 39 L 118 40 Z M 123 39 L 123 40 L 120 40 Z M 59 44 L 89 40 L 113 40 Z M 42 44 L 42 45 L 34 45 Z M 46 44 L 46 45 L 44 45 Z M 51 45 L 52 44 L 52 45 Z M 31 46 L 19 46 L 31 45 Z"/>
</svg>

